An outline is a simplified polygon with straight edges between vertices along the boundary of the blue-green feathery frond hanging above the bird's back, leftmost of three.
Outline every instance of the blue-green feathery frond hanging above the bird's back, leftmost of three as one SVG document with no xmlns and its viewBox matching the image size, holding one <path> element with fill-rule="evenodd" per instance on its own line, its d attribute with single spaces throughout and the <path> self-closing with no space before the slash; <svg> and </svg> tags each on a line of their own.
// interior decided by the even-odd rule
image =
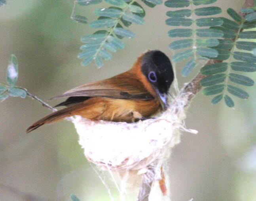
<svg viewBox="0 0 256 201">
<path fill-rule="evenodd" d="M 101 3 L 102 0 L 78 0 L 80 6 Z M 135 0 L 105 0 L 111 4 L 108 8 L 95 9 L 94 14 L 99 16 L 97 20 L 89 24 L 90 27 L 99 28 L 100 30 L 91 35 L 85 35 L 81 41 L 85 43 L 80 47 L 82 52 L 78 58 L 83 59 L 82 65 L 86 66 L 93 60 L 98 67 L 103 65 L 102 60 L 112 59 L 110 52 L 116 52 L 124 48 L 122 38 L 134 38 L 135 33 L 127 28 L 132 23 L 143 25 L 145 11 Z M 162 4 L 161 0 L 142 0 L 147 6 L 153 8 L 155 5 Z M 74 20 L 80 22 L 81 16 Z M 87 23 L 87 19 L 82 16 L 82 22 Z"/>
</svg>

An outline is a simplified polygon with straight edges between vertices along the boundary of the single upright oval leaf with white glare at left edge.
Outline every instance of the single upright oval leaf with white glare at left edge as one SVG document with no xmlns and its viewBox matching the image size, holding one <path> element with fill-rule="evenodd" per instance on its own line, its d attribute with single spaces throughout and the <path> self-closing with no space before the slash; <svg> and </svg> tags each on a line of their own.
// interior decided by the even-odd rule
<svg viewBox="0 0 256 201">
<path fill-rule="evenodd" d="M 10 56 L 6 80 L 11 86 L 15 85 L 18 80 L 18 61 L 15 55 Z"/>
</svg>

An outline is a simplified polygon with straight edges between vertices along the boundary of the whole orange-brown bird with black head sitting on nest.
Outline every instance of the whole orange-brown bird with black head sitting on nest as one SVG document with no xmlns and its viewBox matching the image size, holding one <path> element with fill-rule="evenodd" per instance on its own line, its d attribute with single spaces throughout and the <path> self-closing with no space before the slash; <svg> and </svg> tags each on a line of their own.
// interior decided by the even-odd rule
<svg viewBox="0 0 256 201">
<path fill-rule="evenodd" d="M 173 80 L 173 66 L 167 55 L 159 50 L 146 51 L 126 72 L 87 83 L 51 98 L 68 97 L 55 106 L 65 108 L 36 121 L 28 127 L 27 133 L 74 115 L 92 121 L 127 123 L 151 118 L 166 110 Z"/>
</svg>

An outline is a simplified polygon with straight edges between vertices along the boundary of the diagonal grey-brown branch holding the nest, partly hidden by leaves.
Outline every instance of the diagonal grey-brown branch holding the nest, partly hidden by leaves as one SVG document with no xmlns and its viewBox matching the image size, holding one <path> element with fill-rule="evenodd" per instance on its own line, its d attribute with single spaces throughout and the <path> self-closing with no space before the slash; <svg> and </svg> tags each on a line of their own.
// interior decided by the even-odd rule
<svg viewBox="0 0 256 201">
<path fill-rule="evenodd" d="M 248 8 L 248 7 L 254 7 L 254 0 L 245 0 L 245 3 L 243 5 L 243 8 Z M 241 15 L 241 17 L 245 17 L 241 12 L 239 13 Z M 210 59 L 206 64 L 214 64 L 214 63 L 220 63 L 222 61 L 220 60 L 213 60 Z M 197 74 L 197 76 L 195 76 L 195 78 L 189 82 L 181 91 L 180 91 L 180 95 L 182 94 L 190 94 L 187 98 L 187 102 L 186 104 L 184 104 L 184 109 L 188 108 L 188 106 L 190 105 L 190 102 L 192 101 L 193 97 L 195 97 L 195 95 L 201 90 L 201 85 L 200 82 L 203 78 L 206 78 L 206 75 L 202 75 L 200 72 Z M 148 201 L 148 197 L 151 191 L 151 186 L 152 186 L 152 182 L 147 183 L 146 180 L 144 178 L 147 178 L 147 173 L 144 174 L 144 176 L 142 177 L 142 184 L 140 186 L 140 192 L 138 194 L 138 199 L 137 201 Z"/>
</svg>

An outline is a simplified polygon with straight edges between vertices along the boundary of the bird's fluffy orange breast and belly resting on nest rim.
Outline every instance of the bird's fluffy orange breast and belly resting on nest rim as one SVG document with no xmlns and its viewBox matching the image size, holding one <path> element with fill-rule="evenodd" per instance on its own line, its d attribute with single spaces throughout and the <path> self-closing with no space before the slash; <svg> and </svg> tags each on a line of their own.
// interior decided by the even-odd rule
<svg viewBox="0 0 256 201">
<path fill-rule="evenodd" d="M 94 97 L 84 101 L 85 106 L 72 115 L 91 120 L 133 122 L 140 117 L 150 117 L 161 108 L 159 101 L 127 100 Z"/>
</svg>

